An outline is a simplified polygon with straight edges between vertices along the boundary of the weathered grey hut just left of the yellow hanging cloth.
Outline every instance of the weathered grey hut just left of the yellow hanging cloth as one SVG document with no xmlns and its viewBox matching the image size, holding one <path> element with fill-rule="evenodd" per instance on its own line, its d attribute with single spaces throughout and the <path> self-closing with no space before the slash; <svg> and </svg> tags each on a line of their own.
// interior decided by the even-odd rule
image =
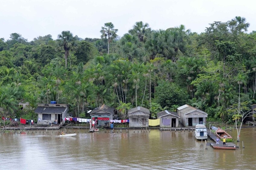
<svg viewBox="0 0 256 170">
<path fill-rule="evenodd" d="M 149 110 L 144 107 L 134 107 L 128 110 L 129 127 L 148 127 Z"/>
</svg>

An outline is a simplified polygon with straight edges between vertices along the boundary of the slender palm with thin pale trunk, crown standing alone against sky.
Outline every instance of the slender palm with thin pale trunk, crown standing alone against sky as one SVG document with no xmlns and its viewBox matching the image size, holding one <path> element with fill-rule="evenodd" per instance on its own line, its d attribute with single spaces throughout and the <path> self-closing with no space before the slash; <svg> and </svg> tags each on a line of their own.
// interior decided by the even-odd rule
<svg viewBox="0 0 256 170">
<path fill-rule="evenodd" d="M 105 27 L 101 27 L 100 33 L 102 33 L 101 38 L 107 38 L 108 37 L 108 54 L 109 54 L 109 44 L 110 42 L 117 37 L 116 32 L 118 32 L 118 29 L 114 29 L 114 25 L 112 22 L 105 23 Z"/>
</svg>

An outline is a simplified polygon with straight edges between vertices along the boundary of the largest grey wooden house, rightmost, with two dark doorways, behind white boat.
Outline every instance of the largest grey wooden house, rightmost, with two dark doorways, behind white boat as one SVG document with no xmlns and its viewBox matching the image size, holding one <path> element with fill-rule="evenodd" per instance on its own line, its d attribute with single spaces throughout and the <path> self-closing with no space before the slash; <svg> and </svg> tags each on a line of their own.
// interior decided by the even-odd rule
<svg viewBox="0 0 256 170">
<path fill-rule="evenodd" d="M 180 116 L 180 123 L 184 127 L 196 126 L 198 124 L 205 125 L 208 115 L 204 111 L 187 104 L 177 108 L 177 113 Z"/>
</svg>

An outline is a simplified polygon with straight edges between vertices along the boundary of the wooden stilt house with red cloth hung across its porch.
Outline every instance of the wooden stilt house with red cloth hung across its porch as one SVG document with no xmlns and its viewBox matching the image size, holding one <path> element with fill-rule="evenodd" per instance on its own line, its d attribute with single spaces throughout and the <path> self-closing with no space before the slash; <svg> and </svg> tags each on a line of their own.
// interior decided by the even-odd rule
<svg viewBox="0 0 256 170">
<path fill-rule="evenodd" d="M 90 112 L 92 119 L 97 119 L 98 127 L 110 127 L 110 120 L 114 117 L 114 108 L 103 104 Z"/>
</svg>

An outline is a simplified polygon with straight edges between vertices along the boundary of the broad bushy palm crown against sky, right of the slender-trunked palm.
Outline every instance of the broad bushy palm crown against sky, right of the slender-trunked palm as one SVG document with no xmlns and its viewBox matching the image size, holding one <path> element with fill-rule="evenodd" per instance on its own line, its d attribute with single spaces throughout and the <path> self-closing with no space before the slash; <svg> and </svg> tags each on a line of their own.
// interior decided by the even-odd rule
<svg viewBox="0 0 256 170">
<path fill-rule="evenodd" d="M 131 35 L 137 35 L 140 42 L 145 41 L 147 39 L 147 34 L 150 34 L 151 28 L 149 28 L 148 23 L 143 23 L 142 21 L 136 22 L 133 25 L 133 29 L 128 31 Z"/>
</svg>

